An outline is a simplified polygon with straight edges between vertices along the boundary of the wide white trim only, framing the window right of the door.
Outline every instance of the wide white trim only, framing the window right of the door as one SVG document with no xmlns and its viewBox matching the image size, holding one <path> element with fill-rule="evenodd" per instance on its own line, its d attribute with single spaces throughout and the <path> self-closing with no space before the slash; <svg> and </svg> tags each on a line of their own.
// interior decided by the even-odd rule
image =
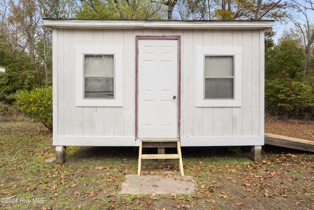
<svg viewBox="0 0 314 210">
<path fill-rule="evenodd" d="M 205 56 L 234 57 L 234 98 L 205 99 Z M 196 107 L 241 107 L 242 106 L 242 48 L 197 47 L 196 48 Z"/>
</svg>

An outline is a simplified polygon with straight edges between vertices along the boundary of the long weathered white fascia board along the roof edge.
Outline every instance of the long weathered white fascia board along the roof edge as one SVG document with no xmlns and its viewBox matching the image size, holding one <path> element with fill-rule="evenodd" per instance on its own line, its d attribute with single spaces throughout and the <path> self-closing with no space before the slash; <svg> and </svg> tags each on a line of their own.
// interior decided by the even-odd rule
<svg viewBox="0 0 314 210">
<path fill-rule="evenodd" d="M 54 29 L 177 29 L 177 30 L 265 30 L 274 21 L 128 21 L 45 19 Z"/>
</svg>

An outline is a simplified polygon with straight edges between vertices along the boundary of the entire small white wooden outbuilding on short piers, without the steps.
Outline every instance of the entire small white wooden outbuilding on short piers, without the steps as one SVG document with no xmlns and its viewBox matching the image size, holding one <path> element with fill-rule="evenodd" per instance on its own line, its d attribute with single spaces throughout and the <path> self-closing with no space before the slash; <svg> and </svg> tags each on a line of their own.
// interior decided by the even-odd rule
<svg viewBox="0 0 314 210">
<path fill-rule="evenodd" d="M 264 30 L 273 21 L 56 20 L 53 145 L 264 145 Z"/>
</svg>

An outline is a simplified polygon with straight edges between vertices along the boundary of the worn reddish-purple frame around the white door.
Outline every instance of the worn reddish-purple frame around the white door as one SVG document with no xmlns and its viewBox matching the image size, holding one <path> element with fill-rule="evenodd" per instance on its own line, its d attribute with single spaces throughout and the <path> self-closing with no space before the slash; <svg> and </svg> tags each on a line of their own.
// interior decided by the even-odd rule
<svg viewBox="0 0 314 210">
<path fill-rule="evenodd" d="M 180 35 L 162 35 L 162 36 L 135 36 L 135 138 L 138 138 L 138 42 L 140 39 L 168 39 L 178 40 L 178 131 L 177 136 L 180 139 L 181 127 L 181 36 Z"/>
</svg>

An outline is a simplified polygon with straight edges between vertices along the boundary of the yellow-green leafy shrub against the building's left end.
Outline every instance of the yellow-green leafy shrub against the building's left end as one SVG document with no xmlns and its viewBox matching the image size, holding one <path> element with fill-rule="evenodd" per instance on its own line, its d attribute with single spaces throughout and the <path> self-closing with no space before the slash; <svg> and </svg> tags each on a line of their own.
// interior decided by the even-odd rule
<svg viewBox="0 0 314 210">
<path fill-rule="evenodd" d="M 52 132 L 52 87 L 17 93 L 15 106 L 26 116 L 41 122 Z"/>
</svg>

